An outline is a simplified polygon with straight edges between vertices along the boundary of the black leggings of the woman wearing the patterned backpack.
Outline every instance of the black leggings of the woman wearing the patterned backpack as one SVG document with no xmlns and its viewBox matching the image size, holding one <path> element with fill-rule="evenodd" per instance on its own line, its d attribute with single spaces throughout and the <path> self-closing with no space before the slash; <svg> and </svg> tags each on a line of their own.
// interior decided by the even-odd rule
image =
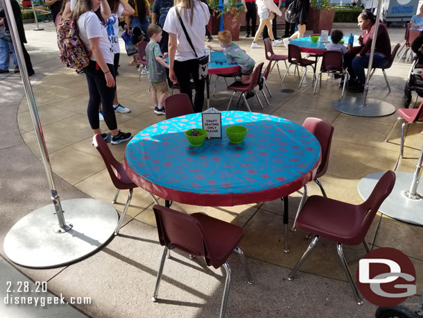
<svg viewBox="0 0 423 318">
<path fill-rule="evenodd" d="M 114 65 L 108 64 L 110 73 L 116 81 Z M 103 117 L 110 131 L 117 128 L 116 115 L 114 115 L 113 99 L 115 87 L 107 87 L 105 76 L 100 67 L 96 69 L 96 62 L 89 61 L 89 65 L 84 67 L 85 76 L 87 76 L 89 100 L 87 107 L 88 122 L 92 129 L 100 128 L 100 119 L 98 119 L 98 105 L 101 103 Z"/>
</svg>

